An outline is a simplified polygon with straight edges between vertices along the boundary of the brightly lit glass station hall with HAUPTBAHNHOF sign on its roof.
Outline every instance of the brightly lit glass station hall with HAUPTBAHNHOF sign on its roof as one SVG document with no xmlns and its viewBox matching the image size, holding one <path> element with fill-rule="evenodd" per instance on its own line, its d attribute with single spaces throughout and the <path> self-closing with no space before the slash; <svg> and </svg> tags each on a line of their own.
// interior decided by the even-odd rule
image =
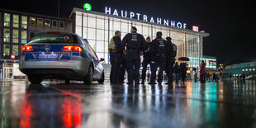
<svg viewBox="0 0 256 128">
<path fill-rule="evenodd" d="M 102 7 L 102 12 L 92 11 L 92 6 L 84 5 L 84 9 L 73 8 L 70 18 L 73 19 L 73 32 L 86 38 L 98 58 L 108 62 L 108 43 L 115 31 L 121 31 L 121 39 L 135 26 L 142 36 L 156 37 L 157 31 L 162 31 L 163 38 L 170 36 L 178 46 L 178 57 L 202 58 L 203 37 L 206 32 L 187 29 L 187 23 L 161 17 L 151 17 L 139 12 L 117 10 L 113 7 Z M 195 29 L 196 30 L 196 29 Z M 196 61 L 195 61 L 196 62 Z M 189 64 L 198 67 L 199 61 Z"/>
</svg>

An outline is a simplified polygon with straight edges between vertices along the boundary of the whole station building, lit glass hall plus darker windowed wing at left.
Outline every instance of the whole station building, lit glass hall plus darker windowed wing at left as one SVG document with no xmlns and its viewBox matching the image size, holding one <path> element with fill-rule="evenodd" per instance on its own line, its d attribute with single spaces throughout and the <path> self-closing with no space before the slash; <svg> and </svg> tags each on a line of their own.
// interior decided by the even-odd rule
<svg viewBox="0 0 256 128">
<path fill-rule="evenodd" d="M 1 78 L 15 78 L 21 46 L 37 31 L 69 31 L 86 38 L 98 58 L 109 61 L 108 43 L 115 31 L 121 31 L 121 39 L 130 32 L 131 26 L 141 35 L 156 37 L 162 31 L 163 38 L 170 36 L 178 46 L 179 57 L 187 57 L 189 67 L 198 67 L 203 58 L 203 38 L 209 36 L 197 26 L 183 21 L 151 17 L 140 12 L 102 7 L 102 12 L 73 8 L 69 18 L 49 17 L 38 14 L 0 9 L 0 68 Z M 187 29 L 189 27 L 193 30 Z M 20 74 L 18 74 L 20 75 Z"/>
</svg>

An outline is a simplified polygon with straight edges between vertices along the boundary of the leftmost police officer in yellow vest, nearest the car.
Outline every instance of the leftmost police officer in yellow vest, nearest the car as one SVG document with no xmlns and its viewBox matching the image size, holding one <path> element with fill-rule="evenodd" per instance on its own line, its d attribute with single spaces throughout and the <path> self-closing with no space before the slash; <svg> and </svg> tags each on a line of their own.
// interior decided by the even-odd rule
<svg viewBox="0 0 256 128">
<path fill-rule="evenodd" d="M 121 31 L 116 31 L 115 36 L 111 38 L 108 45 L 111 63 L 110 82 L 111 84 L 120 84 L 120 69 L 121 69 Z"/>
</svg>

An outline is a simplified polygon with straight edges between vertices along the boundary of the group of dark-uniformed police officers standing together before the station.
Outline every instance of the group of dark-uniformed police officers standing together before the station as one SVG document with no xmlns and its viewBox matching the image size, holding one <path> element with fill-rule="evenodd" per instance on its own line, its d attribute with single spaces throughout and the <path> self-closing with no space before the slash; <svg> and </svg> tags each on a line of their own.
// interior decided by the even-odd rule
<svg viewBox="0 0 256 128">
<path fill-rule="evenodd" d="M 162 32 L 156 33 L 156 38 L 150 40 L 147 37 L 137 33 L 135 26 L 131 27 L 130 33 L 121 40 L 121 31 L 116 31 L 115 36 L 109 43 L 109 54 L 111 62 L 111 84 L 121 84 L 124 82 L 126 69 L 128 72 L 129 85 L 140 84 L 140 55 L 143 55 L 143 69 L 141 84 L 145 84 L 145 73 L 148 64 L 151 69 L 151 78 L 149 84 L 155 83 L 156 71 L 159 68 L 157 81 L 159 84 L 163 81 L 163 73 L 167 73 L 168 83 L 173 83 L 173 64 L 177 53 L 177 46 L 174 45 L 170 37 L 166 40 L 162 38 Z"/>
</svg>

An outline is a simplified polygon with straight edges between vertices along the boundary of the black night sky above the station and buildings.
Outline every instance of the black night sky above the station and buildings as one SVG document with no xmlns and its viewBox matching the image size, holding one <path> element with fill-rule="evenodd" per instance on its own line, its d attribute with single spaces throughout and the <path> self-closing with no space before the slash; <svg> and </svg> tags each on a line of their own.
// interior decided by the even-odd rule
<svg viewBox="0 0 256 128">
<path fill-rule="evenodd" d="M 198 0 L 59 0 L 60 17 L 68 18 L 73 7 L 83 8 L 83 3 L 92 5 L 92 11 L 104 12 L 112 7 L 128 12 L 140 12 L 169 21 L 187 23 L 187 29 L 199 26 L 210 36 L 203 39 L 203 55 L 217 57 L 218 64 L 235 64 L 256 60 L 256 29 L 254 3 L 246 1 L 198 1 Z M 0 7 L 46 16 L 58 16 L 57 0 L 5 1 Z M 254 32 L 255 33 L 255 32 Z M 253 50 L 254 49 L 254 50 Z"/>
</svg>

